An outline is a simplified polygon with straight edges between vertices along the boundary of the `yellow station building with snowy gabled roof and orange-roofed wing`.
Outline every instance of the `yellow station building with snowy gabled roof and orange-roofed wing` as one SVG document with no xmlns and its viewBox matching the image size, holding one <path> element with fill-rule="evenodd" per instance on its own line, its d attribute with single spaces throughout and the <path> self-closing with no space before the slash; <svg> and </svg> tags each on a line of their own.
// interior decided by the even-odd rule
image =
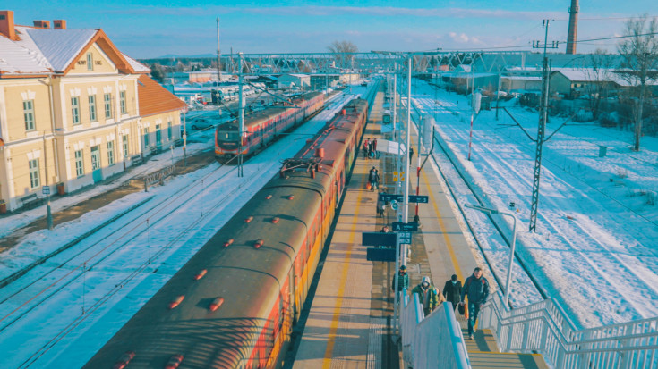
<svg viewBox="0 0 658 369">
<path fill-rule="evenodd" d="M 179 142 L 185 105 L 149 73 L 102 29 L 20 26 L 0 11 L 0 211 L 91 186 Z"/>
</svg>

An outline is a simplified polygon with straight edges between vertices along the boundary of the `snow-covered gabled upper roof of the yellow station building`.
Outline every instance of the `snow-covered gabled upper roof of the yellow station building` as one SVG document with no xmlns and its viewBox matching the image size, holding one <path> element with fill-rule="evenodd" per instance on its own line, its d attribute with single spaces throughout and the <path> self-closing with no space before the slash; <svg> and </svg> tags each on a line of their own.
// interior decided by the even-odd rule
<svg viewBox="0 0 658 369">
<path fill-rule="evenodd" d="M 120 70 L 149 72 L 149 68 L 118 52 L 102 29 L 38 29 L 14 26 L 17 39 L 0 35 L 0 75 L 65 73 L 75 58 L 97 42 Z"/>
</svg>

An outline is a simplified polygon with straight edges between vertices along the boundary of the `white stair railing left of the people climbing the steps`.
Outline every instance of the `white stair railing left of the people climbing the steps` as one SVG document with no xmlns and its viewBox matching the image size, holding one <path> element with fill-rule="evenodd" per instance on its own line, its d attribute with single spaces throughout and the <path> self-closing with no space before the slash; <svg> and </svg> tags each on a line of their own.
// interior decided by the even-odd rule
<svg viewBox="0 0 658 369">
<path fill-rule="evenodd" d="M 462 331 L 452 304 L 443 303 L 424 317 L 423 306 L 414 294 L 403 294 L 400 330 L 406 367 L 467 369 L 471 365 Z"/>
</svg>

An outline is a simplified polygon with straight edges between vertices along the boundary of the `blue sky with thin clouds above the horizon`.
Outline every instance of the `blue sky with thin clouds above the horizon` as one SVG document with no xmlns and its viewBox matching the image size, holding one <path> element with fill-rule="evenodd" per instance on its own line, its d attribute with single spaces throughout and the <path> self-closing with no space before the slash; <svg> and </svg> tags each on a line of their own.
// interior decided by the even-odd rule
<svg viewBox="0 0 658 369">
<path fill-rule="evenodd" d="M 64 19 L 69 28 L 101 28 L 136 58 L 222 54 L 323 52 L 334 40 L 360 51 L 529 49 L 543 40 L 542 20 L 551 19 L 549 40 L 565 41 L 570 0 L 539 1 L 90 1 L 13 2 L 14 20 Z M 628 17 L 658 15 L 655 0 L 581 0 L 578 39 L 619 36 Z M 614 50 L 615 41 L 587 42 Z M 563 51 L 564 46 L 560 49 Z"/>
</svg>

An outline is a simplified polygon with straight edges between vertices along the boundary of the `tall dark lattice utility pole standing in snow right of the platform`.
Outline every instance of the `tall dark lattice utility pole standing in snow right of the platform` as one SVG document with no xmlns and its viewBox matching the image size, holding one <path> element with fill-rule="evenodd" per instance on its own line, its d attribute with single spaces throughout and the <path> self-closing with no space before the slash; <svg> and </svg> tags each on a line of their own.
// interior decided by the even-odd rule
<svg viewBox="0 0 658 369">
<path fill-rule="evenodd" d="M 546 56 L 546 49 L 549 48 L 548 44 L 548 29 L 549 20 L 543 21 L 545 29 L 543 37 L 543 46 L 539 41 L 533 42 L 534 48 L 543 47 L 543 68 L 542 68 L 542 101 L 539 105 L 539 128 L 537 129 L 537 147 L 534 153 L 534 178 L 533 178 L 533 204 L 530 206 L 530 228 L 529 231 L 534 232 L 537 228 L 537 207 L 539 205 L 539 180 L 542 172 L 542 148 L 543 136 L 546 130 L 546 120 L 548 117 L 548 97 L 549 97 L 549 62 Z M 553 41 L 550 48 L 558 48 L 558 44 Z"/>
</svg>

